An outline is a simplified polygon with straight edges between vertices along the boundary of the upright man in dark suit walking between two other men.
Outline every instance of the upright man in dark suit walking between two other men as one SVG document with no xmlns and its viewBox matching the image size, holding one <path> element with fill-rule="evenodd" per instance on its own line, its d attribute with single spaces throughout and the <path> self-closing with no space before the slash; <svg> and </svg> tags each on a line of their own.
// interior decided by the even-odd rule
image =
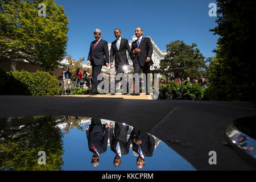
<svg viewBox="0 0 256 182">
<path fill-rule="evenodd" d="M 115 60 L 116 75 L 118 73 L 125 73 L 124 66 L 129 65 L 126 51 L 129 53 L 131 58 L 133 57 L 128 40 L 121 38 L 121 34 L 121 30 L 119 28 L 115 28 L 114 35 L 117 39 L 112 42 L 110 48 L 110 67 L 112 67 L 113 61 Z M 115 85 L 117 85 L 117 82 L 118 81 L 115 81 Z"/>
</svg>

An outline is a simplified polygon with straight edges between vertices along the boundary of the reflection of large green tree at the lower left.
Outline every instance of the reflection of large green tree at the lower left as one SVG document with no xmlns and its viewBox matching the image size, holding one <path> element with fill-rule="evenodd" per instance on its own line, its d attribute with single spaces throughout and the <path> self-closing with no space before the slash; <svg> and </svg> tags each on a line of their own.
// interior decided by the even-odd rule
<svg viewBox="0 0 256 182">
<path fill-rule="evenodd" d="M 63 165 L 63 134 L 51 117 L 40 117 L 25 125 L 18 138 L 3 133 L 0 140 L 1 170 L 60 170 Z M 10 133 L 10 132 L 9 132 Z M 46 152 L 46 164 L 39 165 L 39 151 Z"/>
</svg>

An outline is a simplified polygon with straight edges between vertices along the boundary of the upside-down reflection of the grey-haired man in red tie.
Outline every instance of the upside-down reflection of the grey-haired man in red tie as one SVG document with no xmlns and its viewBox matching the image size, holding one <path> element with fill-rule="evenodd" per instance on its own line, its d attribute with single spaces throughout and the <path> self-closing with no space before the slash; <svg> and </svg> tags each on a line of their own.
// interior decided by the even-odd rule
<svg viewBox="0 0 256 182">
<path fill-rule="evenodd" d="M 85 129 L 89 151 L 93 152 L 91 163 L 96 167 L 100 163 L 100 154 L 106 152 L 108 147 L 109 126 L 106 123 L 104 127 L 100 118 L 92 118 L 90 127 L 86 125 Z"/>
</svg>

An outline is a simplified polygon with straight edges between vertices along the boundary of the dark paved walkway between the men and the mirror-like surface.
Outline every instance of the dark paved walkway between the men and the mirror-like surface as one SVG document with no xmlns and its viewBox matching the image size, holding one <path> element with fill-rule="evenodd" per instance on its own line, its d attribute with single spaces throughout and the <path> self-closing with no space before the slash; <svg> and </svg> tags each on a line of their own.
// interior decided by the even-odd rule
<svg viewBox="0 0 256 182">
<path fill-rule="evenodd" d="M 256 168 L 233 146 L 222 144 L 229 142 L 225 131 L 230 123 L 237 118 L 256 115 L 255 105 L 247 102 L 143 100 L 138 96 L 133 96 L 137 98 L 133 100 L 106 97 L 0 96 L 0 117 L 80 115 L 110 119 L 155 135 L 196 169 Z M 208 163 L 209 151 L 216 151 L 217 165 Z"/>
</svg>

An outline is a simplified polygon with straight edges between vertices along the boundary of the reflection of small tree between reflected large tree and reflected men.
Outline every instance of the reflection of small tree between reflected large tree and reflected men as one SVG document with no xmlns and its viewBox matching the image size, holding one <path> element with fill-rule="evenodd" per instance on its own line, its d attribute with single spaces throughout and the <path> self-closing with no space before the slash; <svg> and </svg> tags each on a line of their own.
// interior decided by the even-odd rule
<svg viewBox="0 0 256 182">
<path fill-rule="evenodd" d="M 64 121 L 67 122 L 67 125 L 65 126 L 65 134 L 69 133 L 70 129 L 73 129 L 73 127 L 77 127 L 78 130 L 82 130 L 82 127 L 80 126 L 82 124 L 82 120 L 90 119 L 88 117 L 79 117 L 79 116 L 64 116 Z"/>
</svg>

